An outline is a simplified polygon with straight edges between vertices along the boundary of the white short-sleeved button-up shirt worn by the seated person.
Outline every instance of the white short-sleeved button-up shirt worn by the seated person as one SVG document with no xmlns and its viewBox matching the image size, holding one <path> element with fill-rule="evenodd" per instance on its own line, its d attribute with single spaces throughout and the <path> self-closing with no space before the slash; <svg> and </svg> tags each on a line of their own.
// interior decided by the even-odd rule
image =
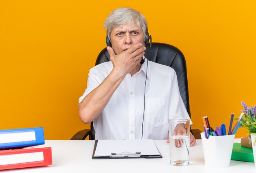
<svg viewBox="0 0 256 173">
<path fill-rule="evenodd" d="M 90 69 L 87 89 L 79 98 L 79 103 L 105 80 L 112 69 L 111 61 Z M 180 96 L 176 73 L 171 67 L 145 59 L 137 73 L 126 75 L 105 109 L 93 121 L 95 140 L 141 139 L 142 123 L 143 139 L 166 140 L 168 120 L 171 118 L 190 120 Z"/>
</svg>

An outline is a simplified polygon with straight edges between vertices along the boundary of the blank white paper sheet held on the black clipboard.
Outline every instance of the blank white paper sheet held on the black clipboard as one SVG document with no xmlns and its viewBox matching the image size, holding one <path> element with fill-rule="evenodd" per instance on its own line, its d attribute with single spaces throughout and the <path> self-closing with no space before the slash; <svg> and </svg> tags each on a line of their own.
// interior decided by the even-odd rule
<svg viewBox="0 0 256 173">
<path fill-rule="evenodd" d="M 138 152 L 141 155 L 161 155 L 153 140 L 98 140 L 94 156 Z"/>
</svg>

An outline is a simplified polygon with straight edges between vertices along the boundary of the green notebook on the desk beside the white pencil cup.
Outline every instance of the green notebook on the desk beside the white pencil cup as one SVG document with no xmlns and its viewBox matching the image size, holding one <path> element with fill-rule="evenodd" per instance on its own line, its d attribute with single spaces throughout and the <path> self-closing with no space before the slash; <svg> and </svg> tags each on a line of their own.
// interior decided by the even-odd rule
<svg viewBox="0 0 256 173">
<path fill-rule="evenodd" d="M 241 143 L 234 143 L 231 160 L 254 162 L 252 149 L 241 146 Z"/>
</svg>

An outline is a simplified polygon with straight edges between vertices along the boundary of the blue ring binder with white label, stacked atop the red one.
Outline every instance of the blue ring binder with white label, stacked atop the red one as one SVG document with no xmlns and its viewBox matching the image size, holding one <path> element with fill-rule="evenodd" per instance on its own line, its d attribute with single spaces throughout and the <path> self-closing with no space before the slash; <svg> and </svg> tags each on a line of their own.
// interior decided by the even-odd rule
<svg viewBox="0 0 256 173">
<path fill-rule="evenodd" d="M 0 130 L 0 149 L 45 144 L 43 127 Z"/>
</svg>

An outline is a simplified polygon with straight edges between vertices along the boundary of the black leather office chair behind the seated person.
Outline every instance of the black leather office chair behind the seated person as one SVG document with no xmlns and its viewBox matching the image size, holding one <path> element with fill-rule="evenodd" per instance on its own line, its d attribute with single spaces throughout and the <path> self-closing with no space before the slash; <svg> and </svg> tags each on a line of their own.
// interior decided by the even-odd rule
<svg viewBox="0 0 256 173">
<path fill-rule="evenodd" d="M 145 55 L 146 54 L 147 50 L 145 51 Z M 169 44 L 152 43 L 150 52 L 146 58 L 150 61 L 172 67 L 175 70 L 177 74 L 180 95 L 186 106 L 186 110 L 188 111 L 189 116 L 191 117 L 189 108 L 189 89 L 186 73 L 186 60 L 182 52 L 176 47 L 171 46 Z M 110 58 L 108 51 L 105 48 L 99 53 L 95 65 L 108 61 L 110 61 Z M 191 133 L 194 135 L 195 139 L 201 139 L 201 131 L 199 129 L 191 129 Z M 85 129 L 77 132 L 70 140 L 85 140 L 85 138 L 88 135 L 89 140 L 95 139 L 95 130 L 93 128 L 93 122 L 91 122 L 91 129 Z"/>
</svg>

